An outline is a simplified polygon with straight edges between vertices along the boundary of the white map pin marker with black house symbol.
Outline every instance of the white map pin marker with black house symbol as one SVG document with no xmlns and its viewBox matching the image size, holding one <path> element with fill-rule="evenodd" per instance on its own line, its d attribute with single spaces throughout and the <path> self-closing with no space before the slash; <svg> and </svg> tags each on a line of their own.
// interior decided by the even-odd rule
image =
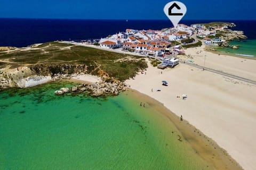
<svg viewBox="0 0 256 170">
<path fill-rule="evenodd" d="M 174 28 L 177 27 L 186 12 L 187 7 L 178 1 L 169 2 L 164 6 L 164 13 L 171 20 Z"/>
</svg>

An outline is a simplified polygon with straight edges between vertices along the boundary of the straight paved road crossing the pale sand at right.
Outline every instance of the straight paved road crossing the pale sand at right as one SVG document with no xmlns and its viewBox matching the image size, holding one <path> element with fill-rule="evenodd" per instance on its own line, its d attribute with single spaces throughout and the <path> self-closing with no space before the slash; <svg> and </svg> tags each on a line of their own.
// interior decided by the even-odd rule
<svg viewBox="0 0 256 170">
<path fill-rule="evenodd" d="M 203 67 L 201 65 L 193 64 L 193 63 L 185 62 L 185 64 L 193 66 L 193 67 L 197 67 L 198 69 L 202 69 L 202 70 L 210 71 L 210 72 L 213 72 L 213 73 L 221 74 L 221 75 L 224 75 L 224 76 L 229 77 L 229 78 L 233 78 L 233 79 L 236 79 L 236 80 L 241 80 L 241 81 L 244 81 L 244 82 L 247 82 L 247 83 L 252 83 L 252 84 L 256 85 L 256 81 L 246 79 L 246 78 L 242 78 L 242 77 L 239 77 L 239 76 L 234 75 L 234 74 L 229 74 L 229 73 L 225 73 L 225 72 L 222 72 L 222 71 L 210 69 L 210 68 L 207 68 L 207 67 Z"/>
</svg>

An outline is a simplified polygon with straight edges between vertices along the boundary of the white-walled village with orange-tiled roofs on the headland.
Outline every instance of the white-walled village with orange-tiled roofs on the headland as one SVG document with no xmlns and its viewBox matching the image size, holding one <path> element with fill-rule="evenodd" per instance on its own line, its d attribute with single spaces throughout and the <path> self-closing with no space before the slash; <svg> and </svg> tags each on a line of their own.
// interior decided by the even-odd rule
<svg viewBox="0 0 256 170">
<path fill-rule="evenodd" d="M 89 42 L 99 45 L 103 49 L 116 49 L 149 57 L 159 57 L 163 60 L 161 66 L 173 67 L 178 64 L 175 56 L 185 54 L 183 49 L 201 46 L 202 42 L 206 46 L 238 48 L 229 46 L 228 41 L 246 39 L 247 37 L 243 35 L 243 31 L 228 29 L 235 26 L 234 23 L 212 22 L 190 26 L 178 24 L 177 28 L 162 30 L 126 29 L 125 32 Z M 83 42 L 87 43 L 87 41 Z M 214 49 L 212 48 L 212 50 Z"/>
</svg>

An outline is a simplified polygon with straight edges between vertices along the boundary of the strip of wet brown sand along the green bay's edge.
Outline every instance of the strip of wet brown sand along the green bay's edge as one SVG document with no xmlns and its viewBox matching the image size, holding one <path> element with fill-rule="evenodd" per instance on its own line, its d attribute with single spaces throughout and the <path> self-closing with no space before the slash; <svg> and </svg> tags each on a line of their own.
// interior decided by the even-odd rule
<svg viewBox="0 0 256 170">
<path fill-rule="evenodd" d="M 196 154 L 214 168 L 243 169 L 235 159 L 233 159 L 225 149 L 219 147 L 213 139 L 204 135 L 187 120 L 180 121 L 180 117 L 166 108 L 163 103 L 131 88 L 126 91 L 131 92 L 133 97 L 145 101 L 150 107 L 154 107 L 159 113 L 168 118 L 181 132 L 183 139 L 195 150 Z"/>
</svg>

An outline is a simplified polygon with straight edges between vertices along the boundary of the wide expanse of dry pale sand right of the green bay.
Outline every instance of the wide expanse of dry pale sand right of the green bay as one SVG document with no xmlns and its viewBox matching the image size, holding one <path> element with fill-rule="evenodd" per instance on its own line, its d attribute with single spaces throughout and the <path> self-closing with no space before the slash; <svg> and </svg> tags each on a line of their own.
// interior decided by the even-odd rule
<svg viewBox="0 0 256 170">
<path fill-rule="evenodd" d="M 205 52 L 204 47 L 186 50 L 195 64 L 256 80 L 256 60 Z M 197 53 L 198 51 L 201 53 Z M 162 73 L 161 73 L 162 71 Z M 244 169 L 256 166 L 256 85 L 179 64 L 159 70 L 149 65 L 126 83 L 183 118 L 225 149 Z M 169 86 L 162 86 L 162 80 Z M 153 89 L 153 92 L 151 91 Z M 161 91 L 156 91 L 157 89 Z M 187 99 L 183 100 L 182 95 Z M 231 161 L 231 160 L 230 160 Z"/>
</svg>

